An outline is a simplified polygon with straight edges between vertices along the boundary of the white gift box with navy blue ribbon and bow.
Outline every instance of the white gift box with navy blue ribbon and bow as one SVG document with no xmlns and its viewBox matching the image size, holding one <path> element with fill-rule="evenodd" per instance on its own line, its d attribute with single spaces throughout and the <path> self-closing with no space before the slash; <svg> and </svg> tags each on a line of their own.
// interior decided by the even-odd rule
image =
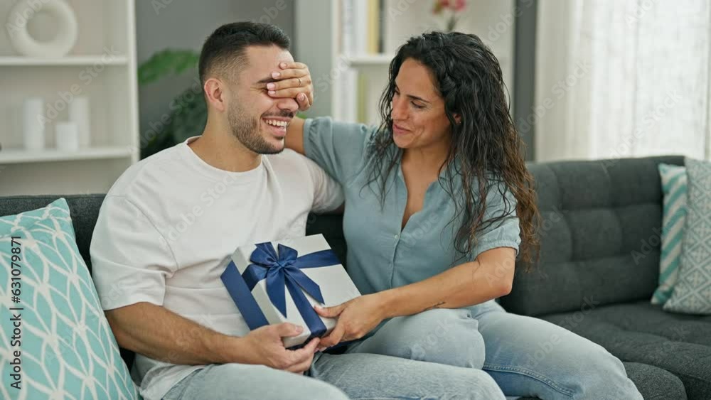
<svg viewBox="0 0 711 400">
<path fill-rule="evenodd" d="M 284 322 L 304 327 L 301 335 L 284 337 L 287 348 L 336 326 L 314 305 L 337 306 L 360 296 L 321 234 L 238 247 L 221 278 L 251 330 Z"/>
</svg>

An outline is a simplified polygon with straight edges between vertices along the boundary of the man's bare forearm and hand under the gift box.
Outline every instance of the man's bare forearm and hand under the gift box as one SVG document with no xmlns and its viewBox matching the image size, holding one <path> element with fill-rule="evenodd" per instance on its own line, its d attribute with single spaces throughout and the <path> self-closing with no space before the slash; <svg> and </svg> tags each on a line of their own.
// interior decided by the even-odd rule
<svg viewBox="0 0 711 400">
<path fill-rule="evenodd" d="M 319 340 L 286 350 L 282 337 L 303 330 L 292 324 L 267 325 L 245 337 L 223 335 L 152 303 L 106 311 L 121 347 L 172 364 L 264 364 L 291 372 L 309 369 Z"/>
</svg>

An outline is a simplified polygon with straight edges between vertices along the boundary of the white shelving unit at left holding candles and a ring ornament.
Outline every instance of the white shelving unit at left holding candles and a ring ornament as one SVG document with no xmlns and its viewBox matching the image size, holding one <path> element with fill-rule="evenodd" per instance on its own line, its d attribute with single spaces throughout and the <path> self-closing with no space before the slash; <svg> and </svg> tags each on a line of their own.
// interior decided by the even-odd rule
<svg viewBox="0 0 711 400">
<path fill-rule="evenodd" d="M 105 193 L 139 160 L 135 0 L 65 0 L 79 26 L 63 58 L 18 55 L 8 30 L 0 33 L 0 190 L 2 195 Z M 12 2 L 0 4 L 5 21 Z M 41 14 L 33 35 L 48 34 Z M 50 25 L 50 24 L 48 24 Z M 55 123 L 68 121 L 74 95 L 90 99 L 89 148 L 58 151 Z M 24 99 L 45 101 L 46 146 L 23 148 Z"/>
</svg>

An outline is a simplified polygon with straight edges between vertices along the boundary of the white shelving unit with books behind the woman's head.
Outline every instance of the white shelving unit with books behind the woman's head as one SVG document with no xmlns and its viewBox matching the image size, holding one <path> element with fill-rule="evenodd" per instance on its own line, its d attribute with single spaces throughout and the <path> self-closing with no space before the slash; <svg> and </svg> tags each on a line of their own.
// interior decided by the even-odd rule
<svg viewBox="0 0 711 400">
<path fill-rule="evenodd" d="M 356 0 L 361 1 L 361 0 Z M 362 0 L 365 1 L 365 0 Z M 387 83 L 387 67 L 397 48 L 407 38 L 432 29 L 444 21 L 432 15 L 432 0 L 383 0 L 383 53 L 343 52 L 344 0 L 296 0 L 296 58 L 309 65 L 316 98 L 310 116 L 330 115 L 341 121 L 377 124 L 378 99 Z M 469 0 L 456 25 L 457 31 L 474 33 L 498 58 L 508 92 L 513 95 L 515 54 L 515 1 Z M 346 83 L 365 75 L 365 85 Z M 366 109 L 359 109 L 359 91 L 365 92 Z M 511 99 L 513 100 L 513 99 Z M 513 101 L 512 113 L 513 113 Z"/>
</svg>

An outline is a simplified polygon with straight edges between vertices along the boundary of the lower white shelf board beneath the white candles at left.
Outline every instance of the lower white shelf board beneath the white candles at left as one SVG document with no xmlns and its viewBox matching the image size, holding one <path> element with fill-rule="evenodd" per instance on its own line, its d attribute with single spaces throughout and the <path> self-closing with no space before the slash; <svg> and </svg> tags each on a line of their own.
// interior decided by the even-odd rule
<svg viewBox="0 0 711 400">
<path fill-rule="evenodd" d="M 28 151 L 11 148 L 0 150 L 0 165 L 16 163 L 42 163 L 48 161 L 95 160 L 102 158 L 128 158 L 134 153 L 129 146 L 106 146 L 85 148 L 79 151 L 46 149 Z"/>
</svg>

